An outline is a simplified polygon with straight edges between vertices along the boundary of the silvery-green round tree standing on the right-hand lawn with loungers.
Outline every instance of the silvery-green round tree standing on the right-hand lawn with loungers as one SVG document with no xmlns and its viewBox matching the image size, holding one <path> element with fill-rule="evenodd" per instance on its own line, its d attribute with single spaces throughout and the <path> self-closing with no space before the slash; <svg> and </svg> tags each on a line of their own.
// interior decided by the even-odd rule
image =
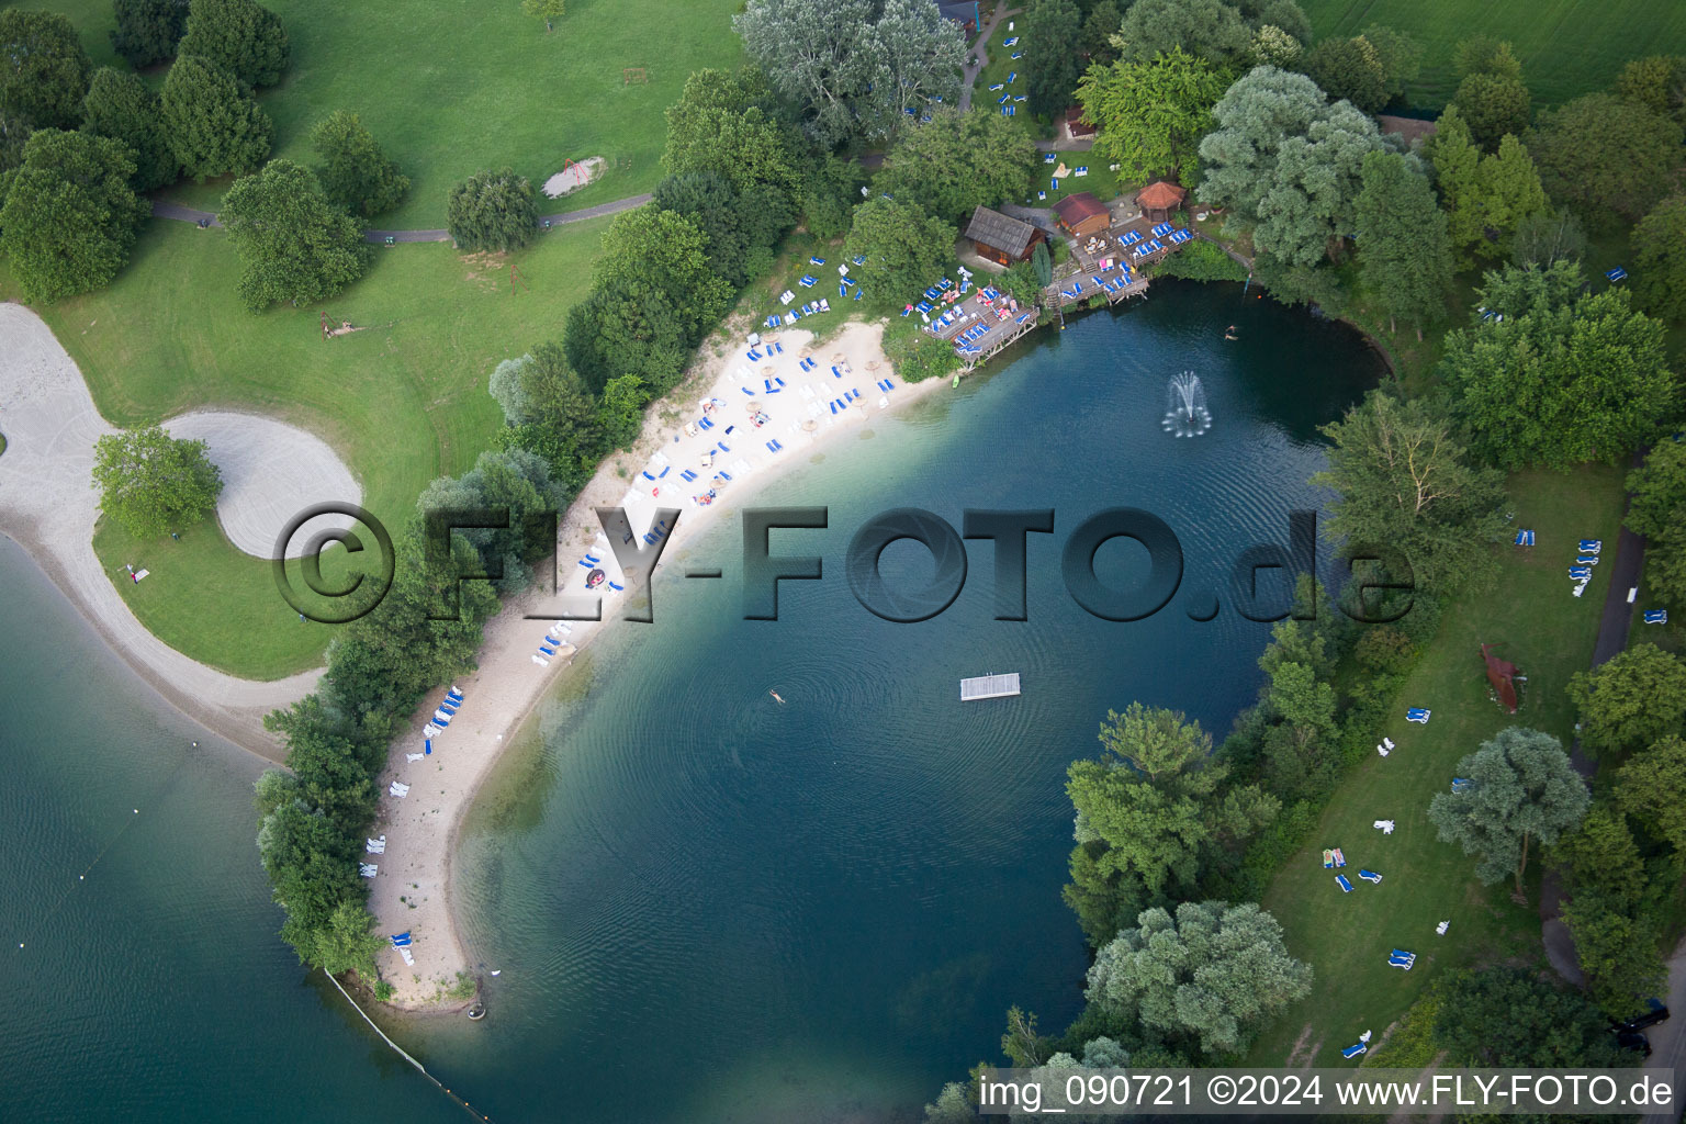
<svg viewBox="0 0 1686 1124">
<path fill-rule="evenodd" d="M 1460 792 L 1436 792 L 1428 821 L 1442 843 L 1474 854 L 1475 876 L 1492 885 L 1516 876 L 1522 895 L 1528 849 L 1538 839 L 1551 846 L 1587 814 L 1592 797 L 1563 743 L 1549 733 L 1509 726 L 1458 762 L 1457 775 L 1475 784 Z"/>
</svg>

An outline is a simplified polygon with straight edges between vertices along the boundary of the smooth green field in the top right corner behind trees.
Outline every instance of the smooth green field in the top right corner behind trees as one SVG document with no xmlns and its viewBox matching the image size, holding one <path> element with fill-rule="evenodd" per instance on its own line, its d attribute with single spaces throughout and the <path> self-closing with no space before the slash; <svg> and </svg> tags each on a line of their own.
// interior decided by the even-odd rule
<svg viewBox="0 0 1686 1124">
<path fill-rule="evenodd" d="M 1607 89 L 1629 59 L 1686 52 L 1678 0 L 1302 0 L 1317 37 L 1356 35 L 1371 24 L 1409 32 L 1423 47 L 1411 103 L 1438 110 L 1457 76 L 1452 51 L 1484 34 L 1511 40 L 1534 104 Z"/>
</svg>

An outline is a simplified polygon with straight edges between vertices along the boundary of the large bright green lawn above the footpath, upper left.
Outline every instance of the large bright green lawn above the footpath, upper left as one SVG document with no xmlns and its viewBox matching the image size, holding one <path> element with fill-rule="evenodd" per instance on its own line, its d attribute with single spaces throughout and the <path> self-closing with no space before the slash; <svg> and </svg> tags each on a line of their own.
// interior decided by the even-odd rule
<svg viewBox="0 0 1686 1124">
<path fill-rule="evenodd" d="M 76 22 L 96 64 L 118 64 L 110 0 L 37 0 Z M 604 157 L 592 185 L 548 211 L 588 207 L 649 190 L 661 169 L 663 111 L 705 66 L 737 66 L 735 0 L 570 0 L 556 30 L 518 0 L 398 0 L 347 8 L 327 0 L 268 0 L 287 25 L 293 62 L 260 94 L 275 118 L 275 155 L 309 162 L 309 130 L 354 110 L 410 177 L 410 199 L 384 229 L 445 226 L 450 185 L 484 167 L 513 165 L 541 184 L 563 158 Z M 646 83 L 622 71 L 644 67 Z M 228 182 L 184 182 L 164 194 L 216 207 Z"/>
</svg>

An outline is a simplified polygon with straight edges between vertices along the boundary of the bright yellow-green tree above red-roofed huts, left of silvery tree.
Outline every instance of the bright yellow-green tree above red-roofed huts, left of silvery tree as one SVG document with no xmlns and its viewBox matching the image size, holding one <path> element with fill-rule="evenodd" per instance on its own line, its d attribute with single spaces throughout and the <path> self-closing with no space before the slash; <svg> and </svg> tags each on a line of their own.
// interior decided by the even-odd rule
<svg viewBox="0 0 1686 1124">
<path fill-rule="evenodd" d="M 1226 76 L 1211 61 L 1172 47 L 1146 61 L 1091 66 L 1077 84 L 1084 118 L 1099 126 L 1096 150 L 1133 179 L 1192 182 L 1200 138 Z"/>
</svg>

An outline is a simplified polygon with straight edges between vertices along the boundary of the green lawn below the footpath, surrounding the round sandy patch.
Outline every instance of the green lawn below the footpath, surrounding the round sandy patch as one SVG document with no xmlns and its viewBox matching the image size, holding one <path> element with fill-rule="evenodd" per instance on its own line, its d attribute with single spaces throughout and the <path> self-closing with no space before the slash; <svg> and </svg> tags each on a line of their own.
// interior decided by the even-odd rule
<svg viewBox="0 0 1686 1124">
<path fill-rule="evenodd" d="M 369 275 L 327 302 L 334 320 L 368 325 L 322 340 L 315 308 L 253 315 L 234 297 L 236 260 L 219 231 L 152 222 L 106 290 L 42 310 L 76 359 L 94 403 L 120 426 L 185 409 L 253 409 L 327 440 L 362 484 L 364 507 L 400 524 L 437 475 L 489 448 L 501 425 L 491 369 L 556 339 L 585 295 L 609 219 L 570 224 L 509 260 L 464 258 L 445 244 L 378 253 Z M 10 288 L 0 266 L 0 295 Z M 268 563 L 206 524 L 180 543 L 135 543 L 116 527 L 94 541 L 106 568 L 152 571 L 116 581 L 135 615 L 172 647 L 243 676 L 314 666 L 330 629 L 298 627 Z M 277 618 L 288 627 L 273 627 Z"/>
</svg>

